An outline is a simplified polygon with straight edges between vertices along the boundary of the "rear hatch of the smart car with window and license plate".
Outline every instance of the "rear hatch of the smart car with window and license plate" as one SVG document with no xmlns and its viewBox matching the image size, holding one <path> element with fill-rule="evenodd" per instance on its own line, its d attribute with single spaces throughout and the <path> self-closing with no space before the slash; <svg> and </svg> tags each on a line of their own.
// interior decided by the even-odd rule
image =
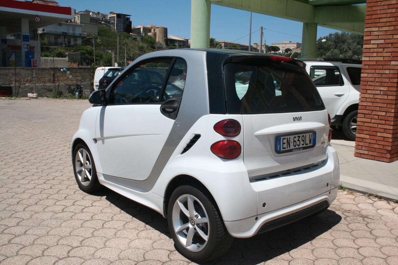
<svg viewBox="0 0 398 265">
<path fill-rule="evenodd" d="M 327 112 L 303 66 L 273 56 L 224 65 L 227 112 L 242 114 L 243 158 L 251 180 L 327 158 Z"/>
</svg>

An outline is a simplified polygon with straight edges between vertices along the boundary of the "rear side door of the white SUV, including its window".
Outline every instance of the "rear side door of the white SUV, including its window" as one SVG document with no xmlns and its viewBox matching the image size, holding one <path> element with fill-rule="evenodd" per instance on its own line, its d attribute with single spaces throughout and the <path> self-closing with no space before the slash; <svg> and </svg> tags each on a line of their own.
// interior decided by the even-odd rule
<svg viewBox="0 0 398 265">
<path fill-rule="evenodd" d="M 349 94 L 347 79 L 341 74 L 341 64 L 307 64 L 307 71 L 333 119 Z"/>
</svg>

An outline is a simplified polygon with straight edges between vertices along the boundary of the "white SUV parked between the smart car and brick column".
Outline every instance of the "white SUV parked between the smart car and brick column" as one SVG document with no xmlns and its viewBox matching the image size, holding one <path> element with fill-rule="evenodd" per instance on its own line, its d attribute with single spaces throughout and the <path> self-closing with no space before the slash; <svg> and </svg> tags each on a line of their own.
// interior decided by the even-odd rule
<svg viewBox="0 0 398 265">
<path fill-rule="evenodd" d="M 362 62 L 320 58 L 302 61 L 332 118 L 332 128 L 354 141 Z"/>
</svg>

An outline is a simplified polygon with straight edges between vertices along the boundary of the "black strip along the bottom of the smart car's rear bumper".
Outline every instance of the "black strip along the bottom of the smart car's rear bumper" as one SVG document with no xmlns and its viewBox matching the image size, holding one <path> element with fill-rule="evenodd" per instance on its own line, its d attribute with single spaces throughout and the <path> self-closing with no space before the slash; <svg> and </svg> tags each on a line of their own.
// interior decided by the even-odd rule
<svg viewBox="0 0 398 265">
<path fill-rule="evenodd" d="M 293 212 L 292 214 L 285 215 L 285 216 L 279 217 L 277 219 L 271 220 L 271 221 L 263 224 L 263 226 L 261 226 L 261 228 L 258 230 L 257 234 L 261 234 L 261 233 L 276 229 L 278 227 L 284 226 L 286 224 L 290 224 L 292 222 L 300 220 L 304 217 L 307 217 L 307 216 L 309 216 L 315 212 L 318 212 L 324 208 L 327 208 L 327 207 L 329 207 L 328 201 L 321 201 L 320 203 L 317 203 L 308 208 L 299 210 L 298 212 Z"/>
</svg>

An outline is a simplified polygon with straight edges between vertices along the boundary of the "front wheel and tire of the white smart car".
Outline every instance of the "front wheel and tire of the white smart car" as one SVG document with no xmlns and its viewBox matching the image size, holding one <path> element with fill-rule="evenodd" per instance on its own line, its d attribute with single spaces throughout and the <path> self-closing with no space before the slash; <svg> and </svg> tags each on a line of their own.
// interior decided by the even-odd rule
<svg viewBox="0 0 398 265">
<path fill-rule="evenodd" d="M 87 193 L 98 191 L 101 184 L 98 181 L 96 165 L 90 149 L 85 144 L 78 144 L 73 150 L 73 172 L 79 188 Z"/>
</svg>

